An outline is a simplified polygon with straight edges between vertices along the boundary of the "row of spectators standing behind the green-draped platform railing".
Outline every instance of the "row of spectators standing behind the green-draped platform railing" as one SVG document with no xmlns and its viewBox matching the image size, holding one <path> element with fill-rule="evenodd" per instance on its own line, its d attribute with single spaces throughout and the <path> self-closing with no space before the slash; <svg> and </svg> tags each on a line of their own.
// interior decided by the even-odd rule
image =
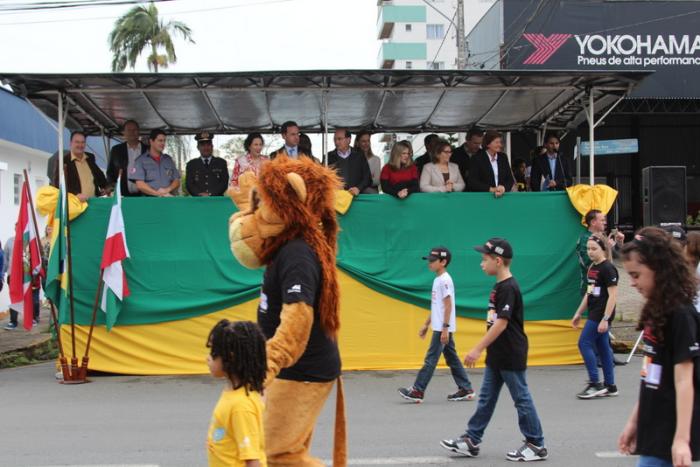
<svg viewBox="0 0 700 467">
<path fill-rule="evenodd" d="M 85 201 L 108 195 L 121 175 L 123 196 L 175 196 L 180 190 L 181 175 L 174 160 L 165 153 L 166 134 L 153 130 L 148 144 L 139 139 L 138 122 L 128 120 L 123 127 L 124 142 L 110 152 L 106 175 L 97 166 L 95 156 L 85 152 L 85 134 L 75 131 L 70 137 L 70 151 L 63 157 L 67 190 Z M 464 144 L 457 147 L 437 134 L 424 138 L 425 153 L 414 157 L 409 141 L 393 145 L 388 162 L 372 152 L 372 134 L 363 130 L 353 135 L 337 128 L 333 135 L 335 149 L 320 158 L 314 157 L 311 139 L 293 121 L 285 122 L 280 135 L 284 144 L 263 154 L 265 139 L 260 133 L 249 134 L 241 154 L 229 170 L 225 159 L 214 155 L 210 132 L 195 136 L 200 157 L 186 166 L 184 188 L 190 196 L 222 196 L 229 187 L 237 187 L 240 175 L 256 175 L 262 165 L 277 156 L 308 157 L 333 167 L 353 196 L 384 192 L 404 199 L 412 193 L 490 192 L 501 197 L 511 191 L 553 191 L 571 186 L 568 160 L 559 151 L 559 138 L 549 135 L 545 145 L 524 159 L 510 158 L 503 152 L 503 136 L 494 130 L 472 129 Z M 58 164 L 50 168 L 51 183 L 57 186 Z"/>
</svg>

